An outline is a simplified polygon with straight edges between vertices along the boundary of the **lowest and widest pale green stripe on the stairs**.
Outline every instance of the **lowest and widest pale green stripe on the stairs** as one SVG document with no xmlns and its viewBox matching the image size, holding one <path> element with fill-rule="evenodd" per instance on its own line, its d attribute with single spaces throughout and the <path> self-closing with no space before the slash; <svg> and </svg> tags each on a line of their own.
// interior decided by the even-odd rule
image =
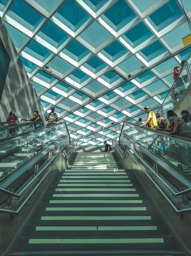
<svg viewBox="0 0 191 256">
<path fill-rule="evenodd" d="M 29 239 L 29 244 L 143 244 L 143 243 L 163 243 L 163 238 L 37 238 Z"/>
</svg>

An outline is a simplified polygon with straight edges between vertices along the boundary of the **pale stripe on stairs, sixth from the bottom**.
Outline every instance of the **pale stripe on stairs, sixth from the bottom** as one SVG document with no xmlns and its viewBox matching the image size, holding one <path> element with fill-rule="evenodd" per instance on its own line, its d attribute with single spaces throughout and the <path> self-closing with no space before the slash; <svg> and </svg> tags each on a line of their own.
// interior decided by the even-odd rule
<svg viewBox="0 0 191 256">
<path fill-rule="evenodd" d="M 53 197 L 139 197 L 139 194 L 53 194 Z"/>
</svg>

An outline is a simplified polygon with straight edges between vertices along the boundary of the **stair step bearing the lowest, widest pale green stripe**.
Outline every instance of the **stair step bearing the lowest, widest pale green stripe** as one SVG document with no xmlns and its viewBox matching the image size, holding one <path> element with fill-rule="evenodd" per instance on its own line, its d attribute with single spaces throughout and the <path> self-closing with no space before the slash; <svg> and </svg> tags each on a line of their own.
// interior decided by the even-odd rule
<svg viewBox="0 0 191 256">
<path fill-rule="evenodd" d="M 62 237 L 21 237 L 18 238 L 18 251 L 89 251 L 91 250 L 175 250 L 174 237 L 131 237 L 131 238 L 67 238 Z"/>
</svg>

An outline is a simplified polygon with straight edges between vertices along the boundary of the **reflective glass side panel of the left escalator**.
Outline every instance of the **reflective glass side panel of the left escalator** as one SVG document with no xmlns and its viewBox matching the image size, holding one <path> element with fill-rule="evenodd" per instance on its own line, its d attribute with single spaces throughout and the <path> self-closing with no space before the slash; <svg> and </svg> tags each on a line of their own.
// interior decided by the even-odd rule
<svg viewBox="0 0 191 256">
<path fill-rule="evenodd" d="M 21 167 L 61 135 L 66 135 L 70 141 L 65 122 L 1 139 L 0 180 Z"/>
</svg>

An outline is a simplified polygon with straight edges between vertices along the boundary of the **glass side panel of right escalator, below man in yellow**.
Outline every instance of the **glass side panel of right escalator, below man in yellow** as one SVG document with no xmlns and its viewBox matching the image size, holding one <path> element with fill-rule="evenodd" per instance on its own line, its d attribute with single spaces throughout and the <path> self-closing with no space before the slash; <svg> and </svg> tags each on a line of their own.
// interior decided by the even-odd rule
<svg viewBox="0 0 191 256">
<path fill-rule="evenodd" d="M 178 168 L 184 175 L 191 177 L 191 140 L 179 136 L 169 136 L 168 133 L 155 131 L 151 128 L 139 127 L 137 124 L 124 122 L 120 140 L 126 138 L 137 141 L 148 148 L 170 165 Z M 122 143 L 122 141 L 120 141 Z"/>
</svg>

